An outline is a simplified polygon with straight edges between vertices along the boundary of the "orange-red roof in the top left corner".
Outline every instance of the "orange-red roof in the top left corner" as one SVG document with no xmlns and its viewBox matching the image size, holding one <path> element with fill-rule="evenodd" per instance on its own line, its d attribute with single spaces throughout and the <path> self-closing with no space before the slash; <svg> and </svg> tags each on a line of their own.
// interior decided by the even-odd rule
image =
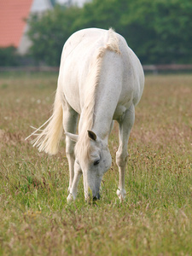
<svg viewBox="0 0 192 256">
<path fill-rule="evenodd" d="M 20 45 L 31 6 L 32 0 L 0 0 L 0 47 Z"/>
</svg>

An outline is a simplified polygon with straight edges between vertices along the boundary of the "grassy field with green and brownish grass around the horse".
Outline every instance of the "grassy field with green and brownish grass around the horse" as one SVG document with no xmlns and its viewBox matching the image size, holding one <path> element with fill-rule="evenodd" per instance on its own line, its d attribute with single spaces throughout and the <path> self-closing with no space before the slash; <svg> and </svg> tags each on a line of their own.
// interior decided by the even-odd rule
<svg viewBox="0 0 192 256">
<path fill-rule="evenodd" d="M 55 73 L 0 73 L 0 255 L 192 255 L 192 75 L 147 76 L 116 195 L 118 129 L 102 198 L 67 205 L 64 139 L 55 156 L 25 141 L 51 113 Z"/>
</svg>

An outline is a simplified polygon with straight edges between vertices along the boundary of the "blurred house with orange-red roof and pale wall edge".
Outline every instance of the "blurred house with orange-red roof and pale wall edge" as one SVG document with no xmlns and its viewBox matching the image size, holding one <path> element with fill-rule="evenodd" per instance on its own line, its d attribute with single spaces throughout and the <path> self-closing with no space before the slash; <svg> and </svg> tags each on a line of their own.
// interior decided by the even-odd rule
<svg viewBox="0 0 192 256">
<path fill-rule="evenodd" d="M 0 47 L 15 46 L 21 55 L 31 46 L 26 36 L 26 19 L 30 14 L 42 14 L 53 6 L 49 0 L 1 0 Z"/>
</svg>

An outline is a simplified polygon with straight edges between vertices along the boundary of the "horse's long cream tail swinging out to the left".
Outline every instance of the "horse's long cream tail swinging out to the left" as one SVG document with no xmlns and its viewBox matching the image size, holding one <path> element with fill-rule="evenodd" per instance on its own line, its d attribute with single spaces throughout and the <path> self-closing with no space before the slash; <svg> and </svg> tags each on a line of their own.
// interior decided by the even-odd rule
<svg viewBox="0 0 192 256">
<path fill-rule="evenodd" d="M 44 130 L 41 128 L 48 124 Z M 58 152 L 59 143 L 61 140 L 62 128 L 62 102 L 58 90 L 55 95 L 54 110 L 52 116 L 41 125 L 32 135 L 37 136 L 33 141 L 33 147 L 37 146 L 39 151 L 44 151 L 48 154 L 56 154 Z M 40 133 L 37 133 L 41 131 Z M 29 137 L 26 137 L 29 138 Z"/>
</svg>

